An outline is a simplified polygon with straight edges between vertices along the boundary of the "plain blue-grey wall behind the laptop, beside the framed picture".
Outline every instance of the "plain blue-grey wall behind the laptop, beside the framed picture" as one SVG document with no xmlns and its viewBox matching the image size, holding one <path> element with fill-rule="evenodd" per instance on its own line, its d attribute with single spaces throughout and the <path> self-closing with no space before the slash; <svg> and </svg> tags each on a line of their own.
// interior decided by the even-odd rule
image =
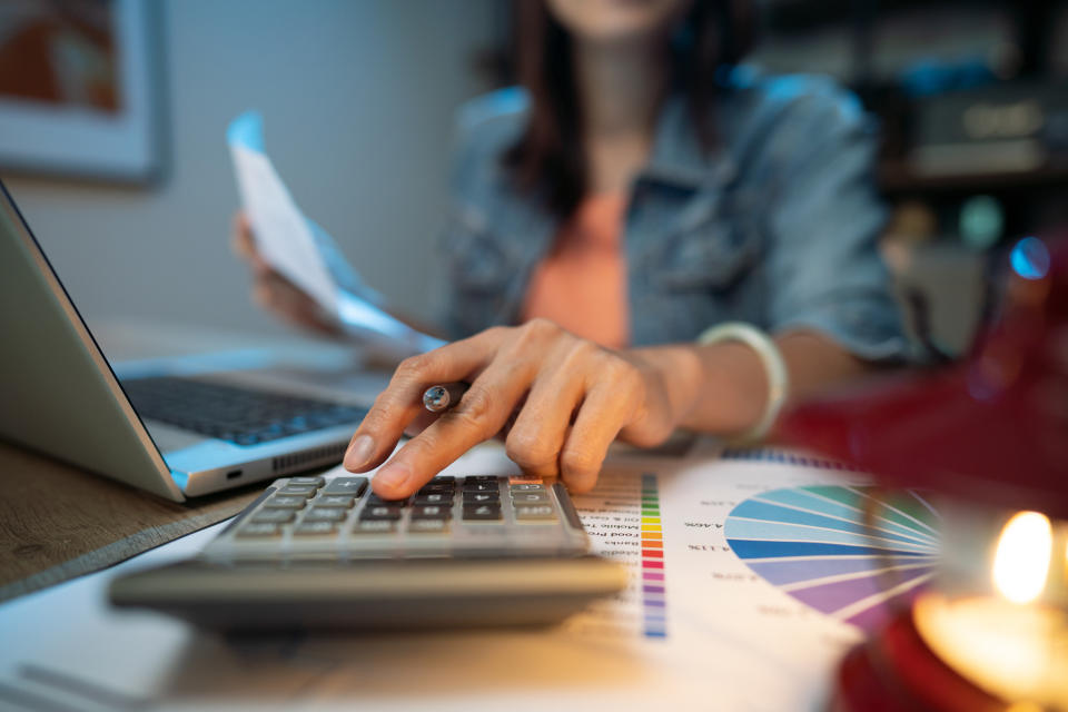
<svg viewBox="0 0 1068 712">
<path fill-rule="evenodd" d="M 7 2 L 7 0 L 4 0 Z M 169 166 L 116 187 L 0 177 L 90 320 L 280 330 L 230 254 L 225 140 L 247 108 L 297 202 L 367 281 L 431 312 L 454 109 L 486 89 L 475 58 L 496 0 L 158 0 Z"/>
</svg>

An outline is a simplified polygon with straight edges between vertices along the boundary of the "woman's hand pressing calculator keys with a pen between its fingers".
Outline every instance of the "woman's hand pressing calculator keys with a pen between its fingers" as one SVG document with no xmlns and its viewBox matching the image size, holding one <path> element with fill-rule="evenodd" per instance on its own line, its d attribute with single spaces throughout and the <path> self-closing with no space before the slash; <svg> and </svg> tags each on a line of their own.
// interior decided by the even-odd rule
<svg viewBox="0 0 1068 712">
<path fill-rule="evenodd" d="M 572 492 L 593 487 L 616 437 L 650 447 L 679 419 L 663 369 L 640 352 L 615 352 L 552 322 L 495 327 L 404 360 L 345 455 L 366 472 L 428 415 L 423 393 L 465 380 L 461 402 L 405 444 L 374 478 L 384 498 L 411 495 L 472 446 L 506 429 L 506 452 L 525 473 L 561 476 Z"/>
</svg>

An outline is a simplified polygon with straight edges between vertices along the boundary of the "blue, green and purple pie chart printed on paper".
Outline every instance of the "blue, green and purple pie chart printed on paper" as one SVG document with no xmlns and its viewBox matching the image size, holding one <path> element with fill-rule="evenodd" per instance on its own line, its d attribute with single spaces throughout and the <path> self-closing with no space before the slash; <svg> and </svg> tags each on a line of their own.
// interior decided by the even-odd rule
<svg viewBox="0 0 1068 712">
<path fill-rule="evenodd" d="M 734 553 L 772 585 L 870 631 L 933 575 L 938 520 L 913 491 L 817 485 L 745 500 L 731 511 L 724 534 Z"/>
</svg>

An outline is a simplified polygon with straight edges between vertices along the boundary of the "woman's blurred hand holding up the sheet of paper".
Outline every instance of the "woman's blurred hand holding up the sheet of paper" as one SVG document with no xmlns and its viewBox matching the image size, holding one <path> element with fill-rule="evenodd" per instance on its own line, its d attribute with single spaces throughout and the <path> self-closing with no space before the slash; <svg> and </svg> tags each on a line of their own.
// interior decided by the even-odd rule
<svg viewBox="0 0 1068 712">
<path fill-rule="evenodd" d="M 256 249 L 253 229 L 244 212 L 234 216 L 234 253 L 244 259 L 253 273 L 253 300 L 283 322 L 327 336 L 339 336 L 340 328 L 328 319 L 306 291 L 294 285 L 270 265 Z"/>
</svg>

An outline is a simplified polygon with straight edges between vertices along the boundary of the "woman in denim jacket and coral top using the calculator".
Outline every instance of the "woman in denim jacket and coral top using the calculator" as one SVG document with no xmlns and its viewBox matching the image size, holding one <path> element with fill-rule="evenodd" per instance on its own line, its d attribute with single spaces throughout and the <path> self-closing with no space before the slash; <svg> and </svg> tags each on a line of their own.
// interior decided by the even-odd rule
<svg viewBox="0 0 1068 712">
<path fill-rule="evenodd" d="M 348 469 L 426 425 L 374 479 L 404 497 L 511 423 L 516 464 L 585 492 L 616 438 L 760 437 L 787 383 L 800 398 L 903 355 L 849 95 L 746 78 L 744 2 L 517 7 L 524 90 L 461 120 L 445 245 L 466 338 L 400 364 Z M 748 326 L 694 343 L 724 322 Z M 423 423 L 424 389 L 453 380 L 469 390 Z"/>
</svg>

